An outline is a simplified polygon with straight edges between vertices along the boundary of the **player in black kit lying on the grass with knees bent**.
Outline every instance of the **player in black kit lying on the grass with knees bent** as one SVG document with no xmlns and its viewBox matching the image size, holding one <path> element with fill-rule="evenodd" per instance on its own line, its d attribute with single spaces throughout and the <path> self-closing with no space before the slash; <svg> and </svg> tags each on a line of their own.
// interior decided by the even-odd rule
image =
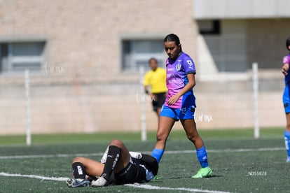
<svg viewBox="0 0 290 193">
<path fill-rule="evenodd" d="M 111 141 L 100 162 L 75 157 L 71 166 L 74 178 L 67 180 L 69 187 L 147 183 L 158 173 L 158 162 L 154 157 L 129 152 L 118 139 Z"/>
</svg>

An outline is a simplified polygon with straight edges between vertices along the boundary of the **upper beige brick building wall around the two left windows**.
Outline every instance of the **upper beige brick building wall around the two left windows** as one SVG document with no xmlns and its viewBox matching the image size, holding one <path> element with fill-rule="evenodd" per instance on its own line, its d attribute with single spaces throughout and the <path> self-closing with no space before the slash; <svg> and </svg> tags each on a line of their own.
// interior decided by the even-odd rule
<svg viewBox="0 0 290 193">
<path fill-rule="evenodd" d="M 43 38 L 47 41 L 46 62 L 61 66 L 63 79 L 72 80 L 77 74 L 81 81 L 135 82 L 137 74 L 121 70 L 123 36 L 164 38 L 175 33 L 194 57 L 193 1 L 178 2 L 5 1 L 0 10 L 0 41 Z"/>
</svg>

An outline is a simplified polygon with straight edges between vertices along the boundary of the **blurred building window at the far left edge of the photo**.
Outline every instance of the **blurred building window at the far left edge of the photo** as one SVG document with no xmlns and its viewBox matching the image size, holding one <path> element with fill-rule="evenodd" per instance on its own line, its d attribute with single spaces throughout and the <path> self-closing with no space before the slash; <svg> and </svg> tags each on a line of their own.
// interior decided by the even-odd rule
<svg viewBox="0 0 290 193">
<path fill-rule="evenodd" d="M 0 43 L 1 73 L 41 71 L 45 42 Z"/>
</svg>

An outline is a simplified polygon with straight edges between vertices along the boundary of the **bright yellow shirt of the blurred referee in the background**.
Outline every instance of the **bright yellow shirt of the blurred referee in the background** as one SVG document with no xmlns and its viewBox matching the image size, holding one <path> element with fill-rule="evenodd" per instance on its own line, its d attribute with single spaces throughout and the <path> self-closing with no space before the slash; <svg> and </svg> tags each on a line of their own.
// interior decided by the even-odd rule
<svg viewBox="0 0 290 193">
<path fill-rule="evenodd" d="M 158 67 L 155 71 L 148 71 L 144 77 L 144 86 L 150 86 L 154 94 L 167 92 L 165 69 Z"/>
</svg>

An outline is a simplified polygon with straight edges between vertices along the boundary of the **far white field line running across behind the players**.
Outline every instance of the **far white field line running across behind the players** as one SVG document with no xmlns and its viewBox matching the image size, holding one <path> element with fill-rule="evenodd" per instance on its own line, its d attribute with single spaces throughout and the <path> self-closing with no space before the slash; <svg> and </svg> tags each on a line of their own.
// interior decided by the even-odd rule
<svg viewBox="0 0 290 193">
<path fill-rule="evenodd" d="M 207 152 L 265 152 L 265 151 L 281 151 L 285 148 L 247 148 L 247 149 L 225 149 L 225 150 L 207 150 Z M 193 153 L 194 150 L 175 150 L 165 151 L 165 154 L 182 154 L 182 153 Z M 151 154 L 151 152 L 144 152 Z M 0 159 L 29 159 L 29 158 L 46 158 L 46 157 L 76 157 L 76 156 L 102 156 L 104 153 L 88 153 L 88 154 L 56 154 L 56 155 L 9 155 L 9 156 L 0 156 Z"/>
</svg>

